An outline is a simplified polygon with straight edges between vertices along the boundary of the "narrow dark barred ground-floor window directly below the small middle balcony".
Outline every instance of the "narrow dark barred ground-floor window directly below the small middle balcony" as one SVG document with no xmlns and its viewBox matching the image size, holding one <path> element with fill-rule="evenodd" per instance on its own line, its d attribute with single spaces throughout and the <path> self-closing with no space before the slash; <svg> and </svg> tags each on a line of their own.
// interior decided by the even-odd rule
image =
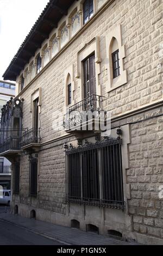
<svg viewBox="0 0 163 256">
<path fill-rule="evenodd" d="M 30 160 L 30 196 L 37 195 L 37 160 Z"/>
</svg>

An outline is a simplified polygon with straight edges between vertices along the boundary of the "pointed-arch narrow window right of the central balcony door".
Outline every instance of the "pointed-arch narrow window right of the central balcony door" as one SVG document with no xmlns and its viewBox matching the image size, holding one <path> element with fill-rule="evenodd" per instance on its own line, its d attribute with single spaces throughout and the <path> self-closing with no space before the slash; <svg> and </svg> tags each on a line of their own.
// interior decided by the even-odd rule
<svg viewBox="0 0 163 256">
<path fill-rule="evenodd" d="M 111 57 L 112 57 L 112 78 L 114 79 L 117 76 L 120 76 L 120 58 L 119 58 L 118 42 L 116 38 L 112 39 Z"/>
</svg>

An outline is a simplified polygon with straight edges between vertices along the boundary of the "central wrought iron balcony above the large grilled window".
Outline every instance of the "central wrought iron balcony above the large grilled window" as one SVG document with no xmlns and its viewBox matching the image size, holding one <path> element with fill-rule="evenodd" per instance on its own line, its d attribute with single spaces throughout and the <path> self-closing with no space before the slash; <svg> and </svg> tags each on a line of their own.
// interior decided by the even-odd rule
<svg viewBox="0 0 163 256">
<path fill-rule="evenodd" d="M 89 130 L 88 124 L 94 124 L 93 127 L 95 128 L 96 120 L 99 122 L 99 119 L 105 118 L 103 101 L 103 96 L 92 94 L 91 96 L 68 108 L 67 113 L 64 115 L 63 126 L 65 131 L 71 132 L 74 130 Z"/>
</svg>

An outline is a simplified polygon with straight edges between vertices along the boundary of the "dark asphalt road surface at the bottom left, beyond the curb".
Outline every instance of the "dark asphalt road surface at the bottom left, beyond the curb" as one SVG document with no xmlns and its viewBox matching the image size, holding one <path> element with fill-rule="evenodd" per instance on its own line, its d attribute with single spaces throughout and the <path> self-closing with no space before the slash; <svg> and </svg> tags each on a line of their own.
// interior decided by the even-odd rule
<svg viewBox="0 0 163 256">
<path fill-rule="evenodd" d="M 7 208 L 9 210 L 9 208 Z M 36 235 L 26 229 L 1 221 L 5 206 L 0 206 L 0 245 L 61 245 L 58 241 Z"/>
</svg>

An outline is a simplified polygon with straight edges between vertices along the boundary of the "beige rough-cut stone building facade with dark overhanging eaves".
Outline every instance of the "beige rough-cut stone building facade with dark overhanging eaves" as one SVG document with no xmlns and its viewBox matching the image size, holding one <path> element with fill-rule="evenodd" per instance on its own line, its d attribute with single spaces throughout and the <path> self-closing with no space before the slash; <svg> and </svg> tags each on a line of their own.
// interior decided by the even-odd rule
<svg viewBox="0 0 163 256">
<path fill-rule="evenodd" d="M 13 213 L 163 243 L 162 9 L 162 0 L 49 1 L 4 74 L 23 105 L 20 148 L 3 152 L 15 177 Z M 67 109 L 85 105 L 111 113 L 109 136 L 57 129 Z"/>
</svg>

